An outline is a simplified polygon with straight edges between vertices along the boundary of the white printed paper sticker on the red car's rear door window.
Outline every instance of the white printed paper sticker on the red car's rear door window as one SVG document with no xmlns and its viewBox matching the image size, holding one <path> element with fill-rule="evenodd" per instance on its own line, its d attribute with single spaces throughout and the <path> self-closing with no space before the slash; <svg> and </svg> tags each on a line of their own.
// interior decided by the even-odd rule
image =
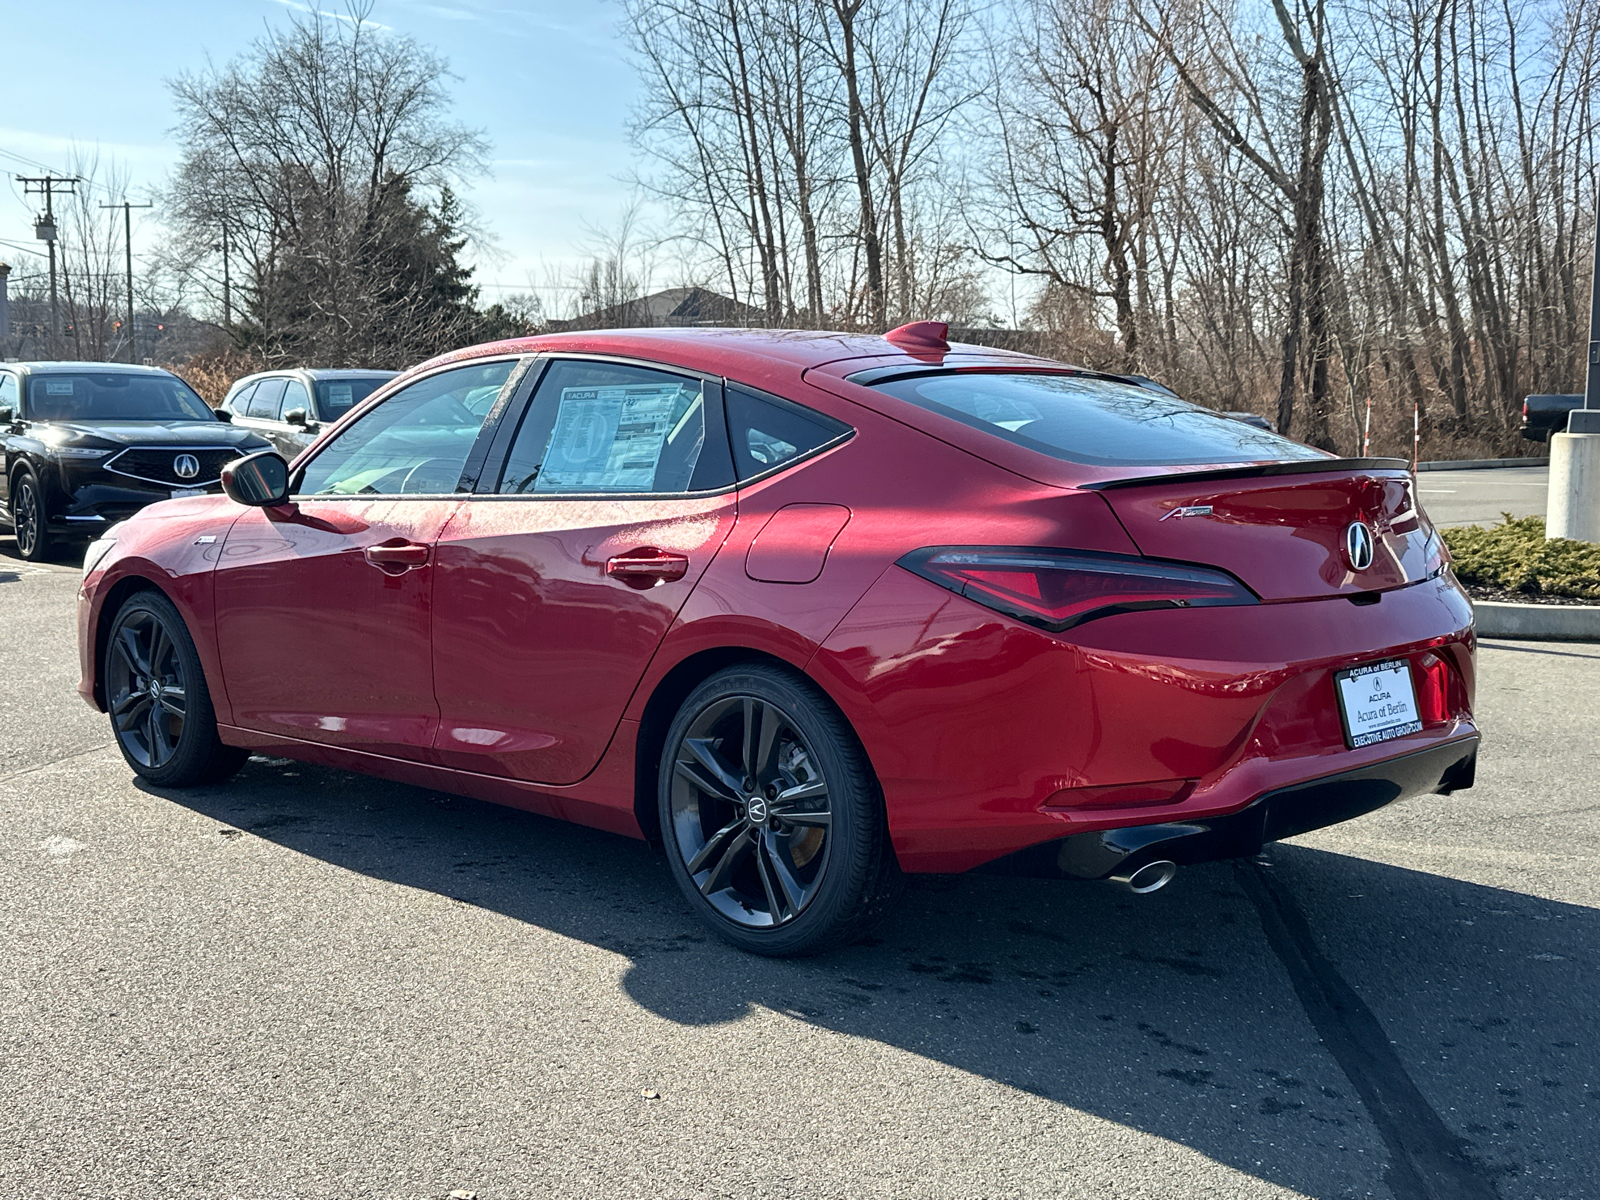
<svg viewBox="0 0 1600 1200">
<path fill-rule="evenodd" d="M 534 491 L 650 491 L 680 405 L 678 384 L 563 387 Z"/>
</svg>

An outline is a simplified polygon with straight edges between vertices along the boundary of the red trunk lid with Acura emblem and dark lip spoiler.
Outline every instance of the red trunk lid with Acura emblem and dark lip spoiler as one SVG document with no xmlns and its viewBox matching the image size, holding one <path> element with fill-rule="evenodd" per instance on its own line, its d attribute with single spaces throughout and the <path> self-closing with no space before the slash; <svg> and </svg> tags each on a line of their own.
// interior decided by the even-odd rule
<svg viewBox="0 0 1600 1200">
<path fill-rule="evenodd" d="M 1293 474 L 1272 467 L 1146 475 L 1088 485 L 1141 554 L 1221 566 L 1262 600 L 1384 592 L 1426 579 L 1443 541 L 1403 469 Z M 1371 562 L 1362 562 L 1365 525 Z M 1355 554 L 1352 555 L 1352 542 Z"/>
</svg>

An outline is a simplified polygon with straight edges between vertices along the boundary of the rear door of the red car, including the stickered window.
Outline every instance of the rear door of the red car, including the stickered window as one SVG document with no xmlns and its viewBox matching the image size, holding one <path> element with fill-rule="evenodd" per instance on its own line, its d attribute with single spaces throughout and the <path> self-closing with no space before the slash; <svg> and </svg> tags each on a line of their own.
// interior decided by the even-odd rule
<svg viewBox="0 0 1600 1200">
<path fill-rule="evenodd" d="M 587 774 L 733 528 L 715 379 L 558 357 L 438 541 L 435 739 L 448 766 Z"/>
</svg>

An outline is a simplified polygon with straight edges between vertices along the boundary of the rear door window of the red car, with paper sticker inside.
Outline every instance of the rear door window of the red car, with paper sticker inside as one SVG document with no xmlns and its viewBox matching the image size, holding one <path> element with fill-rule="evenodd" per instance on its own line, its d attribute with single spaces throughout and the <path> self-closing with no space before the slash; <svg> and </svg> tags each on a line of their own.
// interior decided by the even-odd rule
<svg viewBox="0 0 1600 1200">
<path fill-rule="evenodd" d="M 558 358 L 517 430 L 499 491 L 672 494 L 726 486 L 726 446 L 720 437 L 707 445 L 706 405 L 701 379 Z"/>
</svg>

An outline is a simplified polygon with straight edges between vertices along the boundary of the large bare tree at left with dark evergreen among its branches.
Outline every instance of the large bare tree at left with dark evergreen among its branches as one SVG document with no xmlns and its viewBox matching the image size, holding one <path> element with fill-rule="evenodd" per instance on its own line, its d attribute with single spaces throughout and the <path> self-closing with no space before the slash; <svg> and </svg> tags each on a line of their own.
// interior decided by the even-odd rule
<svg viewBox="0 0 1600 1200">
<path fill-rule="evenodd" d="M 374 27 L 370 0 L 293 16 L 224 67 L 179 75 L 171 256 L 269 360 L 400 363 L 470 334 L 448 187 L 482 136 L 450 122 L 446 64 Z"/>
</svg>

